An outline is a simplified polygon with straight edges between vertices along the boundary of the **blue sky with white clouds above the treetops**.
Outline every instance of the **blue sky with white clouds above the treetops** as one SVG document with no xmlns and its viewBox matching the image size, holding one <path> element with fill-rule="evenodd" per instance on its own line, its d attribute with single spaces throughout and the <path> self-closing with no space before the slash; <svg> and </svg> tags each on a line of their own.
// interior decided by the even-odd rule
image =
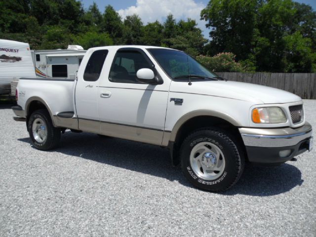
<svg viewBox="0 0 316 237">
<path fill-rule="evenodd" d="M 205 38 L 208 32 L 205 28 L 205 21 L 199 20 L 199 13 L 209 0 L 81 0 L 84 8 L 88 8 L 96 2 L 103 13 L 106 5 L 112 5 L 116 11 L 124 18 L 133 13 L 138 14 L 144 24 L 153 21 L 163 22 L 165 17 L 172 13 L 176 20 L 187 18 L 195 19 L 198 27 L 203 31 Z M 316 9 L 316 0 L 296 0 L 297 2 L 310 4 Z M 158 7 L 157 7 L 158 6 Z"/>
</svg>

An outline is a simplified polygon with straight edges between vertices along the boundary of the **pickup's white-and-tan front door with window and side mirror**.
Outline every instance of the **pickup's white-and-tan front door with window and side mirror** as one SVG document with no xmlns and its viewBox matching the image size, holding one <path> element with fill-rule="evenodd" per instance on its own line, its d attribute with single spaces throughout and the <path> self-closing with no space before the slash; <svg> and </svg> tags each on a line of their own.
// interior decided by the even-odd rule
<svg viewBox="0 0 316 237">
<path fill-rule="evenodd" d="M 139 48 L 121 48 L 113 58 L 108 79 L 100 81 L 98 110 L 104 135 L 161 145 L 169 80 L 144 84 L 136 79 L 139 69 L 156 66 Z"/>
</svg>

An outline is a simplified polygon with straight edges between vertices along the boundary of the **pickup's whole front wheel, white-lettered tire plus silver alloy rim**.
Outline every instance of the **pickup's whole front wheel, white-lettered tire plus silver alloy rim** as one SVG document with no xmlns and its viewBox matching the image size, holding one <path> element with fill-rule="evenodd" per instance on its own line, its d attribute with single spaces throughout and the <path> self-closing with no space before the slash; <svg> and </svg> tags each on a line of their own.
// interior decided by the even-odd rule
<svg viewBox="0 0 316 237">
<path fill-rule="evenodd" d="M 244 157 L 224 130 L 204 128 L 190 134 L 180 148 L 186 178 L 197 188 L 221 192 L 232 187 L 244 168 Z"/>
</svg>

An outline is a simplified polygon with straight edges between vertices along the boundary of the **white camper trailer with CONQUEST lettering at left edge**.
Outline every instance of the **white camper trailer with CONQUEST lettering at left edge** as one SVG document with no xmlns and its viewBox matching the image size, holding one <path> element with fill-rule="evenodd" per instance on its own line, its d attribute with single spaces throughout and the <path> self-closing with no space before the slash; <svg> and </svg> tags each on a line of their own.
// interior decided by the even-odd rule
<svg viewBox="0 0 316 237">
<path fill-rule="evenodd" d="M 0 40 L 0 94 L 10 94 L 11 81 L 19 78 L 35 78 L 30 45 Z"/>
</svg>

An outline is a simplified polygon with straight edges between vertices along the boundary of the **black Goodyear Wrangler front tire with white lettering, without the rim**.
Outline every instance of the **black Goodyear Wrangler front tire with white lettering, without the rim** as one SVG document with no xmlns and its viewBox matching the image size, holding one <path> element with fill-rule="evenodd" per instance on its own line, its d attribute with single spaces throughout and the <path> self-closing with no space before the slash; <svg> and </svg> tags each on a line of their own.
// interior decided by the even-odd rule
<svg viewBox="0 0 316 237">
<path fill-rule="evenodd" d="M 222 192 L 235 185 L 240 178 L 245 158 L 242 149 L 238 149 L 237 142 L 234 142 L 233 136 L 228 134 L 224 130 L 209 127 L 193 132 L 183 141 L 180 148 L 182 171 L 195 187 L 211 192 Z M 214 171 L 218 172 L 220 176 L 217 178 L 214 176 L 215 179 L 213 180 L 206 180 L 200 177 L 201 175 L 197 174 L 198 171 L 195 172 L 190 162 L 191 151 L 197 144 L 202 142 L 214 144 L 223 154 L 223 158 L 221 159 L 225 159 L 222 173 Z"/>
</svg>

